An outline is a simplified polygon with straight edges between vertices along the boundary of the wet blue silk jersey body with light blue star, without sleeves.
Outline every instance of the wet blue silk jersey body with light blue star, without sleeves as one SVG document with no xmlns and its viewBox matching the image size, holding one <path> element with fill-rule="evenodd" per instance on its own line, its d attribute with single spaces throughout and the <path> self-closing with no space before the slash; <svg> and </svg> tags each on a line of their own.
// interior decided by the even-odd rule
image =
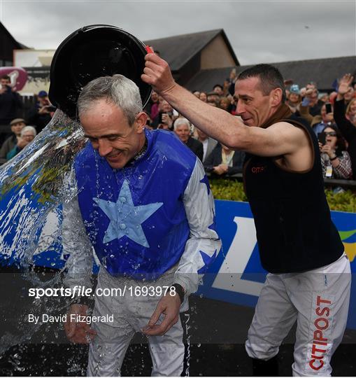
<svg viewBox="0 0 356 378">
<path fill-rule="evenodd" d="M 80 213 L 101 264 L 113 276 L 152 280 L 185 249 L 182 197 L 197 158 L 171 132 L 145 137 L 145 154 L 123 169 L 112 169 L 91 144 L 74 167 Z"/>
</svg>

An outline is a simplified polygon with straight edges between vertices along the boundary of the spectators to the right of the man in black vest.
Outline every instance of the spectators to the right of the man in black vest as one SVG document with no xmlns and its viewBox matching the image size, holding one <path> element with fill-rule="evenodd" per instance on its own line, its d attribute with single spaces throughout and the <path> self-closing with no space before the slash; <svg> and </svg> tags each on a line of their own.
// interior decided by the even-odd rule
<svg viewBox="0 0 356 378">
<path fill-rule="evenodd" d="M 287 90 L 287 105 L 308 121 L 319 139 L 325 179 L 356 178 L 355 87 L 353 76 L 345 74 L 331 93 L 319 93 L 315 83 L 300 90 L 293 84 Z"/>
</svg>

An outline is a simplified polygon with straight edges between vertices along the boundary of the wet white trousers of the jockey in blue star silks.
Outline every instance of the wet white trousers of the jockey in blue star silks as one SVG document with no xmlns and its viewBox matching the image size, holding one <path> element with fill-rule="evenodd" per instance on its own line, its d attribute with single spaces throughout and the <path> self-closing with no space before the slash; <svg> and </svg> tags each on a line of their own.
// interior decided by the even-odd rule
<svg viewBox="0 0 356 378">
<path fill-rule="evenodd" d="M 97 288 L 121 288 L 130 286 L 171 286 L 173 270 L 166 272 L 160 279 L 135 281 L 110 276 L 101 269 Z M 90 377 L 120 376 L 124 355 L 135 332 L 141 332 L 152 316 L 160 295 L 125 295 L 96 297 L 93 316 L 113 314 L 113 323 L 94 323 L 92 328 L 97 336 L 89 347 L 87 375 Z M 180 320 L 163 336 L 148 337 L 152 357 L 152 377 L 180 376 L 183 371 L 184 344 L 183 328 Z"/>
</svg>

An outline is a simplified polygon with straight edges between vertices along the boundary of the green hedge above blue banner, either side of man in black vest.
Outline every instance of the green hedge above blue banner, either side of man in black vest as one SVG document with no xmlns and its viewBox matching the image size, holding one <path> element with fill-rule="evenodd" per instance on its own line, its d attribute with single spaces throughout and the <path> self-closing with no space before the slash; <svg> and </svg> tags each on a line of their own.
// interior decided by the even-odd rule
<svg viewBox="0 0 356 378">
<path fill-rule="evenodd" d="M 247 201 L 243 183 L 234 179 L 210 179 L 209 181 L 216 200 Z M 337 194 L 334 194 L 332 190 L 325 190 L 325 193 L 331 210 L 356 213 L 356 193 L 352 190 Z"/>
</svg>

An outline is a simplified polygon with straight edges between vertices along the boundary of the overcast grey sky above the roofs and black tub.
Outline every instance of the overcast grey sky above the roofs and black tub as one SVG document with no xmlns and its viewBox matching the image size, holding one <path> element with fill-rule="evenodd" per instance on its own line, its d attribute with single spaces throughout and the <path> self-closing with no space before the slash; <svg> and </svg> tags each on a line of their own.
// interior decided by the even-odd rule
<svg viewBox="0 0 356 378">
<path fill-rule="evenodd" d="M 355 8 L 355 0 L 0 0 L 0 18 L 17 41 L 37 49 L 55 49 L 92 24 L 141 40 L 222 28 L 240 64 L 255 64 L 356 55 Z"/>
</svg>

